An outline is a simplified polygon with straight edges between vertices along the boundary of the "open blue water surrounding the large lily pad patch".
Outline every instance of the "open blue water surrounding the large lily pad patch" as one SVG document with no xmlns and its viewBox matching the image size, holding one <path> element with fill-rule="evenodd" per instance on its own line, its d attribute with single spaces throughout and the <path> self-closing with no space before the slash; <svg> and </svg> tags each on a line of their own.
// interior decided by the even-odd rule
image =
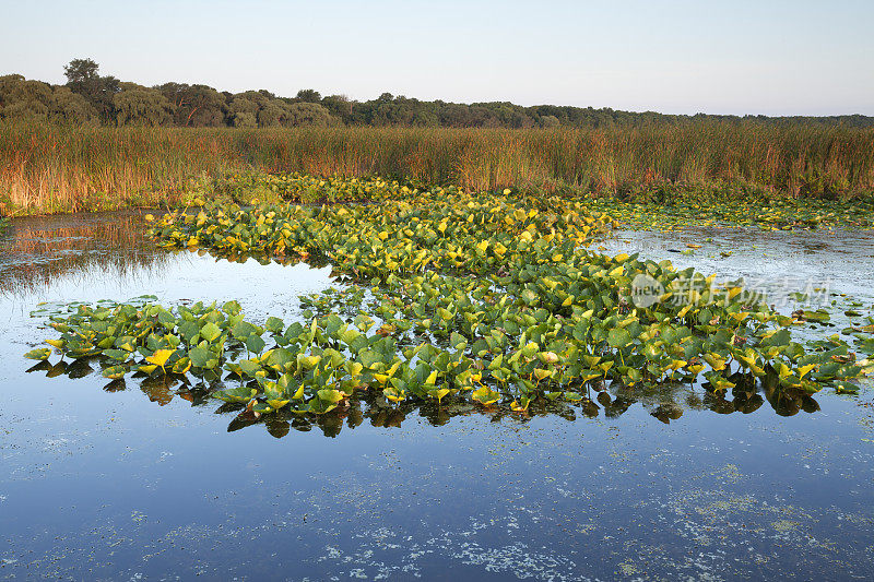
<svg viewBox="0 0 874 582">
<path fill-rule="evenodd" d="M 43 261 L 57 270 L 40 278 L 10 268 L 21 252 L 0 256 L 4 284 L 14 280 L 0 295 L 0 578 L 874 575 L 874 435 L 859 405 L 867 395 L 817 394 L 786 418 L 768 394 L 720 402 L 687 387 L 613 390 L 594 418 L 565 406 L 527 423 L 472 406 L 363 402 L 321 427 L 228 432 L 235 415 L 215 414 L 197 391 L 128 381 L 111 392 L 96 371 L 75 381 L 25 373 L 33 363 L 21 354 L 49 335 L 29 311 L 153 294 L 237 299 L 252 319 L 288 321 L 299 294 L 331 284 L 329 270 L 164 253 L 129 230 L 93 244 L 75 217 L 42 227 L 54 221 L 79 237 L 63 256 L 91 259 Z M 725 247 L 710 250 L 720 236 L 623 234 L 647 242 L 647 257 L 707 274 L 837 275 L 837 290 L 871 304 L 863 235 L 815 248 L 822 235 L 729 231 L 725 259 Z M 665 250 L 686 242 L 705 248 Z"/>
</svg>

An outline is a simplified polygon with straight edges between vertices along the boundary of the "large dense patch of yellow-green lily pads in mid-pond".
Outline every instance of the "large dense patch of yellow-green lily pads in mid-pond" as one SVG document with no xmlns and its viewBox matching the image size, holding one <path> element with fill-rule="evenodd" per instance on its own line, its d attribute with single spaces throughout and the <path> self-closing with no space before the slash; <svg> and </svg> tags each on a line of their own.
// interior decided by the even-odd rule
<svg viewBox="0 0 874 582">
<path fill-rule="evenodd" d="M 871 351 L 862 330 L 852 346 L 837 334 L 802 345 L 790 331 L 800 319 L 741 282 L 714 286 L 670 261 L 589 250 L 614 222 L 580 202 L 383 180 L 310 183 L 324 198 L 329 188 L 369 187 L 379 203 L 198 200 L 200 210 L 168 213 L 149 231 L 167 248 L 330 262 L 351 285 L 303 298 L 305 321 L 257 324 L 235 301 L 79 306 L 51 318 L 61 335 L 49 344 L 73 358 L 105 356 L 107 378 L 227 373 L 238 385 L 213 395 L 262 414 L 326 413 L 356 390 L 518 413 L 536 399 L 584 401 L 612 382 L 852 392 L 874 371 L 855 353 Z M 646 306 L 631 292 L 639 277 L 662 289 Z"/>
</svg>

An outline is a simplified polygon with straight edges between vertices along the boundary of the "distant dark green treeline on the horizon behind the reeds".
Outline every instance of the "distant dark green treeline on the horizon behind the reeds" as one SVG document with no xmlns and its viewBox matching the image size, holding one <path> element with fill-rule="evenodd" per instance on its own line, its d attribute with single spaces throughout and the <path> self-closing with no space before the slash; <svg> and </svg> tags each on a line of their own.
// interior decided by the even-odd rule
<svg viewBox="0 0 874 582">
<path fill-rule="evenodd" d="M 47 121 L 104 126 L 172 127 L 445 127 L 445 128 L 597 128 L 681 126 L 700 120 L 763 123 L 874 127 L 874 117 L 695 116 L 631 112 L 610 108 L 536 105 L 507 102 L 471 105 L 424 102 L 383 93 L 357 102 L 344 95 L 322 96 L 302 90 L 279 97 L 265 90 L 220 92 L 206 85 L 164 83 L 145 87 L 103 76 L 91 59 L 64 67 L 66 85 L 28 81 L 19 74 L 0 76 L 0 120 Z"/>
</svg>

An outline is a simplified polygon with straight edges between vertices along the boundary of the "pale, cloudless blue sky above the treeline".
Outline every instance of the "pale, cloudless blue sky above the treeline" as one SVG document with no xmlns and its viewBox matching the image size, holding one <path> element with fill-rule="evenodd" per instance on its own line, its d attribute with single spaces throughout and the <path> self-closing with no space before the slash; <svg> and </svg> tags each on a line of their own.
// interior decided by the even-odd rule
<svg viewBox="0 0 874 582">
<path fill-rule="evenodd" d="M 0 74 L 293 96 L 874 115 L 874 0 L 0 0 Z"/>
</svg>

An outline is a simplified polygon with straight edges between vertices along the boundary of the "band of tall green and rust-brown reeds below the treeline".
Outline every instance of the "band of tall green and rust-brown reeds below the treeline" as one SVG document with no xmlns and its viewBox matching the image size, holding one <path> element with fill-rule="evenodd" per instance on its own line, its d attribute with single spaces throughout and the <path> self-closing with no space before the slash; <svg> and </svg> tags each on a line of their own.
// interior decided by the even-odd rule
<svg viewBox="0 0 874 582">
<path fill-rule="evenodd" d="M 733 185 L 850 197 L 874 191 L 874 130 L 755 121 L 612 130 L 0 124 L 0 214 L 173 204 L 192 178 L 251 168 L 471 190 L 634 195 Z"/>
</svg>

